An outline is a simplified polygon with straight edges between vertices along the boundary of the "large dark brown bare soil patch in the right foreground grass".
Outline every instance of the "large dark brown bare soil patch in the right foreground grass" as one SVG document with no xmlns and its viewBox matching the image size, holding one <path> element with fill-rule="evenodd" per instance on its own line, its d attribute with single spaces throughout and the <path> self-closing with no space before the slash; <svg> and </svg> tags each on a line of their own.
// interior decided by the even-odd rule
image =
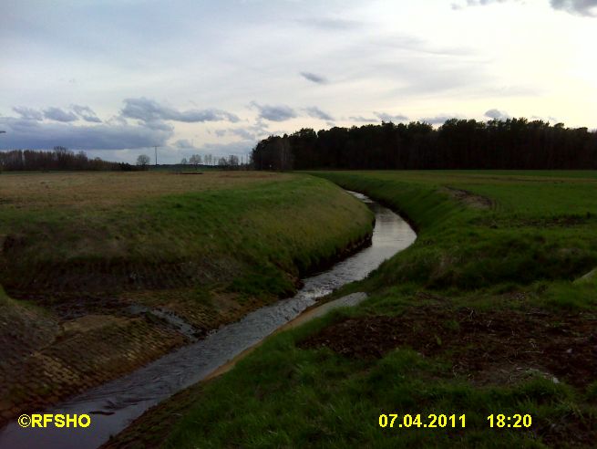
<svg viewBox="0 0 597 449">
<path fill-rule="evenodd" d="M 479 312 L 411 308 L 400 317 L 349 318 L 305 339 L 355 358 L 380 358 L 409 347 L 452 361 L 455 374 L 476 383 L 542 375 L 584 387 L 597 378 L 597 318 L 591 314 Z M 534 370 L 534 371 L 533 371 Z"/>
</svg>

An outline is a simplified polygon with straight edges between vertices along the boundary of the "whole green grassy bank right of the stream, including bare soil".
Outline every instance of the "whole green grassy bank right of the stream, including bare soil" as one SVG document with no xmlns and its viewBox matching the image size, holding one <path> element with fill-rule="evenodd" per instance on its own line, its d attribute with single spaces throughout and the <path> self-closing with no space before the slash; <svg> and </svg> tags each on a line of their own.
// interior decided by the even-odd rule
<svg viewBox="0 0 597 449">
<path fill-rule="evenodd" d="M 406 214 L 416 244 L 345 288 L 370 293 L 361 306 L 270 339 L 115 445 L 594 446 L 595 172 L 314 174 Z M 382 413 L 466 427 L 381 428 Z M 489 427 L 516 413 L 530 427 Z"/>
</svg>

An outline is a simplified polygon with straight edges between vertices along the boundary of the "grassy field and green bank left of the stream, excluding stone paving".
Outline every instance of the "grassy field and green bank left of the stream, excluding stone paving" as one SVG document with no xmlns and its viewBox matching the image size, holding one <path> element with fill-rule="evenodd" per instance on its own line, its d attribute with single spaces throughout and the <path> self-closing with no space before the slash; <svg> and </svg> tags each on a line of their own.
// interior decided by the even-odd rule
<svg viewBox="0 0 597 449">
<path fill-rule="evenodd" d="M 130 284 L 278 297 L 371 230 L 363 204 L 300 175 L 43 173 L 2 181 L 0 282 L 16 297 Z"/>
</svg>

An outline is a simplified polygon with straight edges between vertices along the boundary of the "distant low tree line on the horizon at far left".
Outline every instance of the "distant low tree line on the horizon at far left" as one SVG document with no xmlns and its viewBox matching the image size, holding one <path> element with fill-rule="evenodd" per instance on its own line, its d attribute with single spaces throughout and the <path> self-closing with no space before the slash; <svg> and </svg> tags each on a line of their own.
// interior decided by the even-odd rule
<svg viewBox="0 0 597 449">
<path fill-rule="evenodd" d="M 52 151 L 0 151 L 0 171 L 36 170 L 115 170 L 129 172 L 139 170 L 139 168 L 126 162 L 107 162 L 100 158 L 89 159 L 84 151 L 75 153 L 65 147 L 54 147 Z"/>
</svg>

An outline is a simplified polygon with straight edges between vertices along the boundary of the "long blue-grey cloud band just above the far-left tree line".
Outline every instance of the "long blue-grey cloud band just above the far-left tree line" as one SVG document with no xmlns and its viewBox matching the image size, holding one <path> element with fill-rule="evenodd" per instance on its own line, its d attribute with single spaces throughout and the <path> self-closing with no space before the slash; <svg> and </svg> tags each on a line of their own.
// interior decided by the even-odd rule
<svg viewBox="0 0 597 449">
<path fill-rule="evenodd" d="M 3 149 L 48 149 L 62 145 L 75 150 L 120 150 L 164 145 L 173 134 L 171 130 L 126 124 L 75 126 L 14 117 L 0 117 L 0 127 L 6 131 L 0 141 Z"/>
</svg>

